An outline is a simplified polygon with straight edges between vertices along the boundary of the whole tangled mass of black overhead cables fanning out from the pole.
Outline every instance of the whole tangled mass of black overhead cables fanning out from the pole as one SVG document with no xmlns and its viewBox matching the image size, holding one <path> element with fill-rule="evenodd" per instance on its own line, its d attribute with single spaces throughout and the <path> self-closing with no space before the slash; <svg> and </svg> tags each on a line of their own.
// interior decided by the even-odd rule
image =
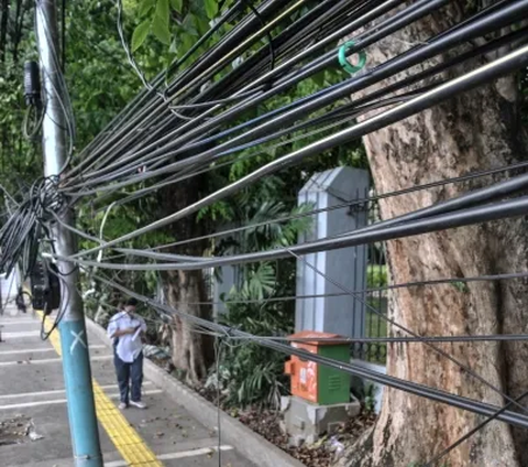
<svg viewBox="0 0 528 467">
<path fill-rule="evenodd" d="M 468 91 L 527 66 L 528 46 L 519 46 L 519 44 L 526 44 L 528 29 L 526 25 L 517 28 L 516 23 L 519 18 L 525 18 L 528 13 L 528 0 L 498 0 L 449 30 L 425 37 L 416 44 L 409 44 L 408 50 L 392 59 L 367 69 L 355 67 L 354 72 L 350 70 L 348 56 L 360 54 L 360 62 L 362 62 L 361 54 L 365 56 L 370 46 L 391 37 L 409 24 L 438 12 L 449 2 L 450 0 L 416 0 L 415 2 L 404 0 L 321 0 L 319 2 L 263 0 L 253 6 L 253 2 L 249 0 L 239 0 L 216 19 L 209 32 L 183 58 L 170 65 L 152 83 L 147 83 L 125 43 L 121 22 L 122 4 L 121 1 L 118 1 L 118 31 L 128 59 L 141 77 L 144 89 L 78 155 L 75 166 L 64 165 L 61 171 L 64 175 L 61 188 L 56 178 L 44 178 L 32 187 L 29 198 L 16 207 L 14 215 L 0 229 L 0 247 L 2 248 L 0 270 L 10 272 L 16 261 L 21 261 L 23 273 L 26 275 L 35 264 L 42 239 L 50 238 L 48 229 L 55 221 L 74 234 L 89 238 L 99 245 L 72 257 L 54 254 L 55 259 L 87 268 L 161 271 L 198 270 L 286 258 L 305 261 L 300 256 L 307 253 L 526 215 L 528 197 L 510 199 L 512 195 L 526 189 L 528 175 L 524 174 L 449 202 L 415 210 L 398 218 L 380 221 L 361 230 L 290 248 L 275 248 L 256 253 L 241 252 L 237 256 L 206 259 L 118 247 L 127 240 L 197 213 L 265 176 L 299 164 L 307 158 L 345 144 L 430 108 L 457 94 Z M 229 31 L 217 43 L 206 50 L 187 68 L 182 67 L 199 46 L 217 34 L 222 24 L 228 23 L 230 24 Z M 512 32 L 506 31 L 507 26 L 512 26 Z M 483 44 L 475 41 L 492 35 L 493 39 L 484 41 Z M 350 36 L 353 36 L 353 41 L 349 40 L 344 45 L 340 45 L 340 41 Z M 481 61 L 472 67 L 472 72 L 446 80 L 446 70 L 449 69 L 455 74 L 460 64 L 506 46 L 512 51 L 504 57 L 484 64 Z M 432 64 L 432 61 L 437 58 L 442 59 Z M 428 65 L 425 66 L 425 64 Z M 271 101 L 271 99 L 276 99 L 284 93 L 290 91 L 302 80 L 340 65 L 349 74 L 343 73 L 343 79 L 339 83 L 304 95 L 282 107 L 275 106 L 274 101 Z M 349 66 L 346 67 L 346 65 Z M 417 70 L 417 67 L 420 69 Z M 353 75 L 351 76 L 350 73 Z M 402 74 L 405 76 L 402 77 Z M 377 89 L 372 90 L 373 86 L 376 86 Z M 350 96 L 353 96 L 352 101 L 350 101 Z M 68 113 L 67 108 L 69 107 L 64 106 L 65 113 Z M 376 110 L 380 112 L 375 112 Z M 370 115 L 365 116 L 365 113 Z M 251 117 L 248 118 L 248 115 Z M 361 122 L 356 122 L 355 119 L 360 116 L 364 118 Z M 70 140 L 73 140 L 73 117 L 67 120 L 70 123 L 68 128 L 72 129 L 68 131 Z M 160 186 L 178 183 L 205 171 L 215 170 L 221 165 L 219 164 L 220 159 L 229 160 L 230 156 L 234 156 L 230 159 L 232 162 L 238 156 L 246 158 L 246 154 L 238 154 L 243 150 L 255 148 L 255 153 L 250 154 L 252 156 L 270 149 L 270 146 L 265 146 L 265 143 L 270 141 L 279 140 L 279 144 L 284 144 L 283 137 L 290 138 L 287 143 L 307 138 L 308 134 L 304 133 L 304 130 L 312 127 L 316 127 L 314 133 L 319 133 L 317 141 L 282 155 L 196 203 L 119 238 L 107 241 L 102 238 L 101 229 L 101 238 L 98 239 L 68 226 L 61 219 L 59 214 L 65 206 L 64 196 L 68 196 L 73 203 L 78 203 L 82 198 L 99 195 L 101 192 L 106 192 L 106 196 L 111 196 L 121 188 L 138 187 L 144 182 L 147 183 L 135 193 L 121 192 L 127 197 L 119 199 L 118 203 L 125 203 Z M 336 129 L 336 132 L 328 132 L 327 130 L 330 129 Z M 72 152 L 70 146 L 70 156 Z M 510 169 L 502 167 L 496 171 Z M 464 177 L 451 178 L 449 183 L 462 178 Z M 448 181 L 439 183 L 448 183 Z M 418 187 L 415 186 L 413 189 L 418 189 Z M 382 196 L 387 196 L 387 194 Z M 99 197 L 100 199 L 101 197 Z M 113 205 L 114 203 L 110 206 Z M 143 257 L 156 262 L 110 263 L 108 258 L 107 261 L 101 261 L 102 250 L 108 249 L 113 249 L 127 257 Z M 51 250 L 55 253 L 53 243 Z M 95 253 L 100 253 L 97 261 L 85 260 L 86 257 Z M 323 275 L 317 268 L 309 267 L 353 300 L 364 302 L 358 291 L 350 291 L 339 282 Z M 68 289 L 64 281 L 64 271 L 63 274 L 59 271 L 50 270 L 50 272 L 55 274 L 58 281 L 63 281 L 63 291 L 66 295 L 63 302 L 67 302 L 69 294 L 76 293 L 76 291 Z M 519 276 L 519 273 L 514 275 Z M 493 280 L 501 279 L 497 275 L 493 278 Z M 178 309 L 172 309 L 134 294 L 113 281 L 97 275 L 94 275 L 94 279 L 121 291 L 121 293 L 136 296 L 163 313 L 177 315 L 193 325 L 195 332 L 216 333 L 217 336 L 226 339 L 239 338 L 254 341 L 288 355 L 299 352 L 299 350 L 292 349 L 273 339 L 227 328 Z M 474 278 L 474 280 L 483 280 L 483 278 Z M 367 303 L 364 305 L 372 308 Z M 61 322 L 63 313 L 64 307 L 59 311 L 53 328 Z M 381 312 L 374 311 L 374 313 L 381 315 Z M 353 363 L 345 365 L 320 356 L 306 356 L 304 352 L 298 355 L 352 374 L 363 376 L 372 381 L 490 416 L 485 423 L 497 417 L 518 426 L 528 426 L 526 415 L 506 410 L 509 406 L 525 410 L 519 405 L 517 399 L 514 400 L 505 394 L 501 388 L 486 381 L 442 348 L 436 347 L 433 341 L 405 328 L 393 318 L 384 317 L 384 319 L 411 336 L 416 341 L 426 344 L 439 356 L 455 363 L 462 371 L 503 398 L 508 405 L 491 406 L 435 388 L 381 376 Z M 50 333 L 43 332 L 43 338 L 47 337 Z"/>
</svg>

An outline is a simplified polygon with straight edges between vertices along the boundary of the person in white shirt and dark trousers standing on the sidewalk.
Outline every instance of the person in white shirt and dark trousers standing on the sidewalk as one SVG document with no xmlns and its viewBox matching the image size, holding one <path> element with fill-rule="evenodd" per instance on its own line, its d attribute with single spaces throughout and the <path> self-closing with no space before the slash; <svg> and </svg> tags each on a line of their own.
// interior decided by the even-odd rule
<svg viewBox="0 0 528 467">
<path fill-rule="evenodd" d="M 145 321 L 135 314 L 138 301 L 130 298 L 122 312 L 117 313 L 108 324 L 108 336 L 113 339 L 113 362 L 118 376 L 121 402 L 119 409 L 130 405 L 146 409 L 141 401 L 143 382 L 143 344 L 141 335 L 146 332 Z M 132 387 L 130 391 L 130 385 Z M 131 397 L 129 399 L 129 391 Z"/>
</svg>

